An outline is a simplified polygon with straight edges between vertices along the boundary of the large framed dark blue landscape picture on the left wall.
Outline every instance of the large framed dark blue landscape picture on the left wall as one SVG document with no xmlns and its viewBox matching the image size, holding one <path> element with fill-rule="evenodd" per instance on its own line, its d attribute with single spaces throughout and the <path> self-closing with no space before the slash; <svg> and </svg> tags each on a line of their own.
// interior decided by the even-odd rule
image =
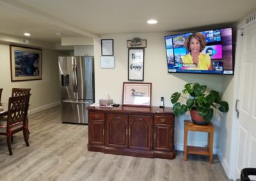
<svg viewBox="0 0 256 181">
<path fill-rule="evenodd" d="M 10 45 L 12 82 L 42 79 L 42 50 Z"/>
</svg>

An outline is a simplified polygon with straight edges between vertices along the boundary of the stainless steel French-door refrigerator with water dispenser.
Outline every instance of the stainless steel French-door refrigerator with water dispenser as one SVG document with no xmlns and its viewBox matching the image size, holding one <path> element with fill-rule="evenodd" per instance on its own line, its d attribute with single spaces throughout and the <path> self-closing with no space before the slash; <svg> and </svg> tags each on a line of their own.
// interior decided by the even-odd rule
<svg viewBox="0 0 256 181">
<path fill-rule="evenodd" d="M 59 57 L 61 121 L 88 124 L 86 107 L 94 103 L 94 58 Z"/>
</svg>

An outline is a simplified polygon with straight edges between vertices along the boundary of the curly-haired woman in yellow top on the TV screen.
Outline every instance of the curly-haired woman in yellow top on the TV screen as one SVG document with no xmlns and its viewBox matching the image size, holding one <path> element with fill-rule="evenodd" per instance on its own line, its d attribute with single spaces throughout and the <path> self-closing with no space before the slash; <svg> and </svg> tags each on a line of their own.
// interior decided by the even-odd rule
<svg viewBox="0 0 256 181">
<path fill-rule="evenodd" d="M 190 34 L 185 40 L 185 47 L 189 54 L 181 56 L 183 66 L 186 66 L 187 69 L 212 70 L 210 55 L 202 53 L 205 45 L 204 34 Z"/>
</svg>

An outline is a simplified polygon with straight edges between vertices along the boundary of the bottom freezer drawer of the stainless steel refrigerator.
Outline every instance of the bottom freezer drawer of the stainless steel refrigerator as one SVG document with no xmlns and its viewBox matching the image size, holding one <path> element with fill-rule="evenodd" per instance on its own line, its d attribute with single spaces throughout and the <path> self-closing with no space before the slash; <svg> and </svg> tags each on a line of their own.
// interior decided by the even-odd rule
<svg viewBox="0 0 256 181">
<path fill-rule="evenodd" d="M 88 124 L 86 107 L 93 102 L 92 100 L 61 99 L 61 121 Z"/>
</svg>

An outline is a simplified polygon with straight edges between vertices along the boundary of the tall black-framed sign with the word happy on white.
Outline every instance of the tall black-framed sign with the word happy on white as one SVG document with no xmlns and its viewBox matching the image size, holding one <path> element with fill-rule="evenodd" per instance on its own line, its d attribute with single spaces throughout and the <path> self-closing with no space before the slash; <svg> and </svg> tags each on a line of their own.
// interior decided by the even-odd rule
<svg viewBox="0 0 256 181">
<path fill-rule="evenodd" d="M 129 48 L 128 80 L 144 80 L 144 48 Z"/>
</svg>

